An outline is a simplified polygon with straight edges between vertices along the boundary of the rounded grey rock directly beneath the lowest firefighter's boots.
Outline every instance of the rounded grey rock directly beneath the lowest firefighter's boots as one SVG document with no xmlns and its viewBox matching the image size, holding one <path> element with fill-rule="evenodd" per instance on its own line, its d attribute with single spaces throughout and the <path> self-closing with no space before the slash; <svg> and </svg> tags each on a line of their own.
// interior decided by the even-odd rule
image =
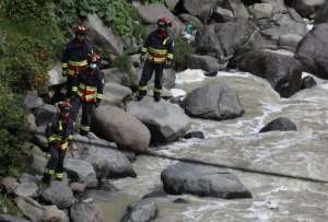
<svg viewBox="0 0 328 222">
<path fill-rule="evenodd" d="M 43 188 L 40 195 L 45 202 L 56 205 L 60 209 L 67 209 L 74 202 L 72 190 L 63 182 L 52 180 L 49 187 Z"/>
</svg>

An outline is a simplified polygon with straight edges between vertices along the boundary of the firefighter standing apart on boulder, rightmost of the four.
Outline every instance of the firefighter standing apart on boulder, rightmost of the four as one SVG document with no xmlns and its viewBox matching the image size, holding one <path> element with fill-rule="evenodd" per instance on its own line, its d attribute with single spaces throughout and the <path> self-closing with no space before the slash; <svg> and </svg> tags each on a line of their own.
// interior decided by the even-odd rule
<svg viewBox="0 0 328 222">
<path fill-rule="evenodd" d="M 154 100 L 161 100 L 162 75 L 165 67 L 172 66 L 174 43 L 168 35 L 172 23 L 167 17 L 157 21 L 157 30 L 145 39 L 141 49 L 140 61 L 144 62 L 141 79 L 139 81 L 138 101 L 147 95 L 147 83 L 155 71 Z"/>
</svg>

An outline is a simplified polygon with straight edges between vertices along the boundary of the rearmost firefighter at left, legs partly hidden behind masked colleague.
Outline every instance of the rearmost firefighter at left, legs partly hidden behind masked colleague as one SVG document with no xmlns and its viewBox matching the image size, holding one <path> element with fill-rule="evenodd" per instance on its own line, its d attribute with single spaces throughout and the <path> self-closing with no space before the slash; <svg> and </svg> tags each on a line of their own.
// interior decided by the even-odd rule
<svg viewBox="0 0 328 222">
<path fill-rule="evenodd" d="M 87 56 L 92 54 L 92 45 L 86 39 L 86 26 L 74 27 L 75 37 L 67 44 L 62 54 L 62 75 L 67 77 L 67 98 L 71 96 L 72 84 L 81 69 L 87 67 Z"/>
</svg>

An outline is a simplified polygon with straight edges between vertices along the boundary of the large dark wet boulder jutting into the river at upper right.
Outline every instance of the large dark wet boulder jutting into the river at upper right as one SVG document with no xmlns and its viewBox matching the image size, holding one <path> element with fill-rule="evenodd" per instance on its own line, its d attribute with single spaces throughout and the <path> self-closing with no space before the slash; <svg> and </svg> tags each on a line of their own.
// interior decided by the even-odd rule
<svg viewBox="0 0 328 222">
<path fill-rule="evenodd" d="M 301 89 L 302 65 L 293 57 L 270 50 L 251 51 L 244 55 L 238 68 L 268 80 L 283 97 Z"/>
</svg>

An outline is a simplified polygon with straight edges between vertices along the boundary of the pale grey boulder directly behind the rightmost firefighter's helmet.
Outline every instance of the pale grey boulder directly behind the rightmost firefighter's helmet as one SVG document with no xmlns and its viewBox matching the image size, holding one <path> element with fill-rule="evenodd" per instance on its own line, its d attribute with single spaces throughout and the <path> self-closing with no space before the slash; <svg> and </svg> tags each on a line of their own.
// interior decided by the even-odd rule
<svg viewBox="0 0 328 222">
<path fill-rule="evenodd" d="M 143 22 L 148 24 L 155 24 L 161 17 L 168 17 L 173 24 L 173 31 L 178 34 L 185 30 L 184 23 L 179 21 L 164 4 L 152 3 L 138 7 L 139 14 Z"/>
</svg>

